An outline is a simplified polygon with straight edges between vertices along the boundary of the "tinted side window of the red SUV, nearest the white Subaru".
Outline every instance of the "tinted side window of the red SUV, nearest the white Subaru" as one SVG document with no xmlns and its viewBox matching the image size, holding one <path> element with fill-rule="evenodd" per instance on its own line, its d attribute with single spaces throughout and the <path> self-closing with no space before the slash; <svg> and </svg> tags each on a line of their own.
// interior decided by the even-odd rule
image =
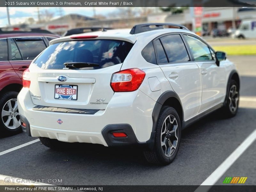
<svg viewBox="0 0 256 192">
<path fill-rule="evenodd" d="M 15 42 L 11 43 L 12 57 L 14 55 L 14 60 L 18 60 L 18 54 L 16 54 L 18 52 L 20 52 L 21 57 L 19 60 L 33 60 L 46 48 L 42 37 L 14 38 L 14 40 Z"/>
</svg>

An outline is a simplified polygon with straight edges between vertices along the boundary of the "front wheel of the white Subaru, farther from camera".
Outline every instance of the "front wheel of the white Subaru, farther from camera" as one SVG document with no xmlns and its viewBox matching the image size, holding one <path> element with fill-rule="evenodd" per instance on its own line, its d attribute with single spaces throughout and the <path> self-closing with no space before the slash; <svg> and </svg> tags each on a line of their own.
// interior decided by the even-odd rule
<svg viewBox="0 0 256 192">
<path fill-rule="evenodd" d="M 222 115 L 225 118 L 236 116 L 239 105 L 239 88 L 235 80 L 231 79 L 228 87 L 228 96 L 222 108 Z"/>
</svg>

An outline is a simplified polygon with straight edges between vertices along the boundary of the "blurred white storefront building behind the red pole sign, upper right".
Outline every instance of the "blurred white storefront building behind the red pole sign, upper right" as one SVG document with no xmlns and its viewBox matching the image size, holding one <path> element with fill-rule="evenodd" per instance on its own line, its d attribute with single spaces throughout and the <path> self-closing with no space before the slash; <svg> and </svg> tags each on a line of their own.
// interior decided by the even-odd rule
<svg viewBox="0 0 256 192">
<path fill-rule="evenodd" d="M 202 25 L 204 31 L 228 30 L 237 28 L 243 19 L 256 18 L 256 8 L 242 7 L 204 7 L 202 13 Z M 155 13 L 148 15 L 148 22 L 166 22 L 181 24 L 194 30 L 193 7 L 183 13 Z"/>
</svg>

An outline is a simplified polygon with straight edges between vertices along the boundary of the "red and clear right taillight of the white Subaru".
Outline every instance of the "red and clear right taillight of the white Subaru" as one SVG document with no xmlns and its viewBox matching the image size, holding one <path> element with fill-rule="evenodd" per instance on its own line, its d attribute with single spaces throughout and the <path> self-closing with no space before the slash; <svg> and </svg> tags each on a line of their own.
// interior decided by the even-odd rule
<svg viewBox="0 0 256 192">
<path fill-rule="evenodd" d="M 145 75 L 145 72 L 138 68 L 125 69 L 113 74 L 110 85 L 114 92 L 135 91 L 140 87 Z"/>
</svg>

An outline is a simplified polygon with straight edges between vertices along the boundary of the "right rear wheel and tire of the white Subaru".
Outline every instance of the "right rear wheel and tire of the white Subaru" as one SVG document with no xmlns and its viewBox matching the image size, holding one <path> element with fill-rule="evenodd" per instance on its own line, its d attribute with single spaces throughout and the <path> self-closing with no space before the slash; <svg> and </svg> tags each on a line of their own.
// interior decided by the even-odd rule
<svg viewBox="0 0 256 192">
<path fill-rule="evenodd" d="M 165 127 L 167 127 L 167 129 Z M 156 137 L 153 151 L 144 151 L 146 160 L 149 163 L 159 165 L 172 163 L 180 147 L 180 138 L 181 125 L 179 115 L 174 108 L 164 106 L 160 111 L 156 124 Z M 165 145 L 162 146 L 162 144 Z"/>
</svg>

